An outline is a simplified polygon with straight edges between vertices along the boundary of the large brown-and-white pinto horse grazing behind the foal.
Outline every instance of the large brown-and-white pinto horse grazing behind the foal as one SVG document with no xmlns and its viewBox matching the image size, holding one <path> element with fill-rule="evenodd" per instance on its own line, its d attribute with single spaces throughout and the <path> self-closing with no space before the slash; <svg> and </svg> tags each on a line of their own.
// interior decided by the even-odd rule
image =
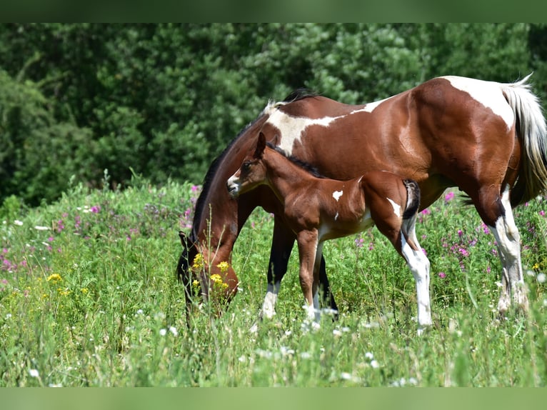
<svg viewBox="0 0 547 410">
<path fill-rule="evenodd" d="M 264 111 L 229 144 L 209 168 L 196 203 L 178 275 L 191 304 L 191 269 L 196 254 L 204 270 L 221 274 L 226 296 L 238 279 L 231 252 L 251 211 L 274 214 L 268 287 L 262 314 L 274 309 L 295 234 L 283 206 L 267 186 L 231 199 L 226 180 L 252 154 L 260 133 L 274 146 L 314 166 L 332 179 L 347 180 L 383 169 L 418 182 L 421 209 L 457 186 L 496 238 L 501 261 L 498 311 L 513 303 L 528 306 L 521 248 L 512 207 L 547 191 L 546 122 L 530 91 L 528 77 L 513 84 L 445 76 L 370 104 L 348 105 L 297 92 Z M 221 271 L 218 264 L 229 263 Z M 225 265 L 224 265 L 225 266 Z M 320 281 L 331 295 L 321 259 Z M 207 289 L 204 289 L 205 293 Z M 336 304 L 329 299 L 333 309 Z"/>
</svg>

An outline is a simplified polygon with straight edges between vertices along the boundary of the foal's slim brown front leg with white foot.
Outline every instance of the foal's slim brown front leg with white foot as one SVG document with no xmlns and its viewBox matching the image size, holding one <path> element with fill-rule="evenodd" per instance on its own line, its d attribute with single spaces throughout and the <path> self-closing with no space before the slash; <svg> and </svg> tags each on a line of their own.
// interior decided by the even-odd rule
<svg viewBox="0 0 547 410">
<path fill-rule="evenodd" d="M 306 299 L 308 319 L 310 321 L 317 321 L 318 319 L 313 303 L 313 288 L 315 287 L 317 289 L 317 286 L 313 286 L 313 271 L 316 263 L 318 232 L 316 229 L 301 231 L 298 233 L 296 241 L 298 242 L 298 258 L 300 260 L 300 286 L 304 299 Z"/>
</svg>

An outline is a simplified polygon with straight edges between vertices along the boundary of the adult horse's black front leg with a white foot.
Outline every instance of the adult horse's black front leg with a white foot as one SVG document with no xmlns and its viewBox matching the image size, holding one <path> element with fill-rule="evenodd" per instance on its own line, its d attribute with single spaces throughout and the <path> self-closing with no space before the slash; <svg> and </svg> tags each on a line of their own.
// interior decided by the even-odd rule
<svg viewBox="0 0 547 410">
<path fill-rule="evenodd" d="M 261 309 L 261 318 L 271 319 L 276 314 L 276 301 L 285 276 L 288 258 L 291 256 L 295 235 L 277 216 L 273 221 L 273 238 L 271 241 L 270 261 L 268 264 L 268 286 Z"/>
</svg>

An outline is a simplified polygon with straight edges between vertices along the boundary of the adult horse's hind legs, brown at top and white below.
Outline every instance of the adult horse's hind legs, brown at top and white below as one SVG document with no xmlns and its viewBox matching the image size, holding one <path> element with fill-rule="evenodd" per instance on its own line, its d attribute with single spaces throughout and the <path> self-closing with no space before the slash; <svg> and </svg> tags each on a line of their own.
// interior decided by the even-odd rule
<svg viewBox="0 0 547 410">
<path fill-rule="evenodd" d="M 501 261 L 501 294 L 498 311 L 501 315 L 509 309 L 511 300 L 525 311 L 528 310 L 528 296 L 521 265 L 521 242 L 518 228 L 513 219 L 509 187 L 500 195 L 488 188 L 479 196 L 476 208 L 483 221 L 492 231 L 498 244 Z"/>
</svg>

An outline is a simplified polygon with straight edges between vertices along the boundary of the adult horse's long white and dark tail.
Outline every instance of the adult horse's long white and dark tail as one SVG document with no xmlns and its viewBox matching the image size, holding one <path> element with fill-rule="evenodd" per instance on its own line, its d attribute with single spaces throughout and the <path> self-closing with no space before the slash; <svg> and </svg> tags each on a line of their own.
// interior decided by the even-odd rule
<svg viewBox="0 0 547 410">
<path fill-rule="evenodd" d="M 517 206 L 547 191 L 547 127 L 541 104 L 528 79 L 502 84 L 502 91 L 516 116 L 516 133 L 521 140 L 521 166 L 511 191 L 511 205 Z"/>
</svg>

